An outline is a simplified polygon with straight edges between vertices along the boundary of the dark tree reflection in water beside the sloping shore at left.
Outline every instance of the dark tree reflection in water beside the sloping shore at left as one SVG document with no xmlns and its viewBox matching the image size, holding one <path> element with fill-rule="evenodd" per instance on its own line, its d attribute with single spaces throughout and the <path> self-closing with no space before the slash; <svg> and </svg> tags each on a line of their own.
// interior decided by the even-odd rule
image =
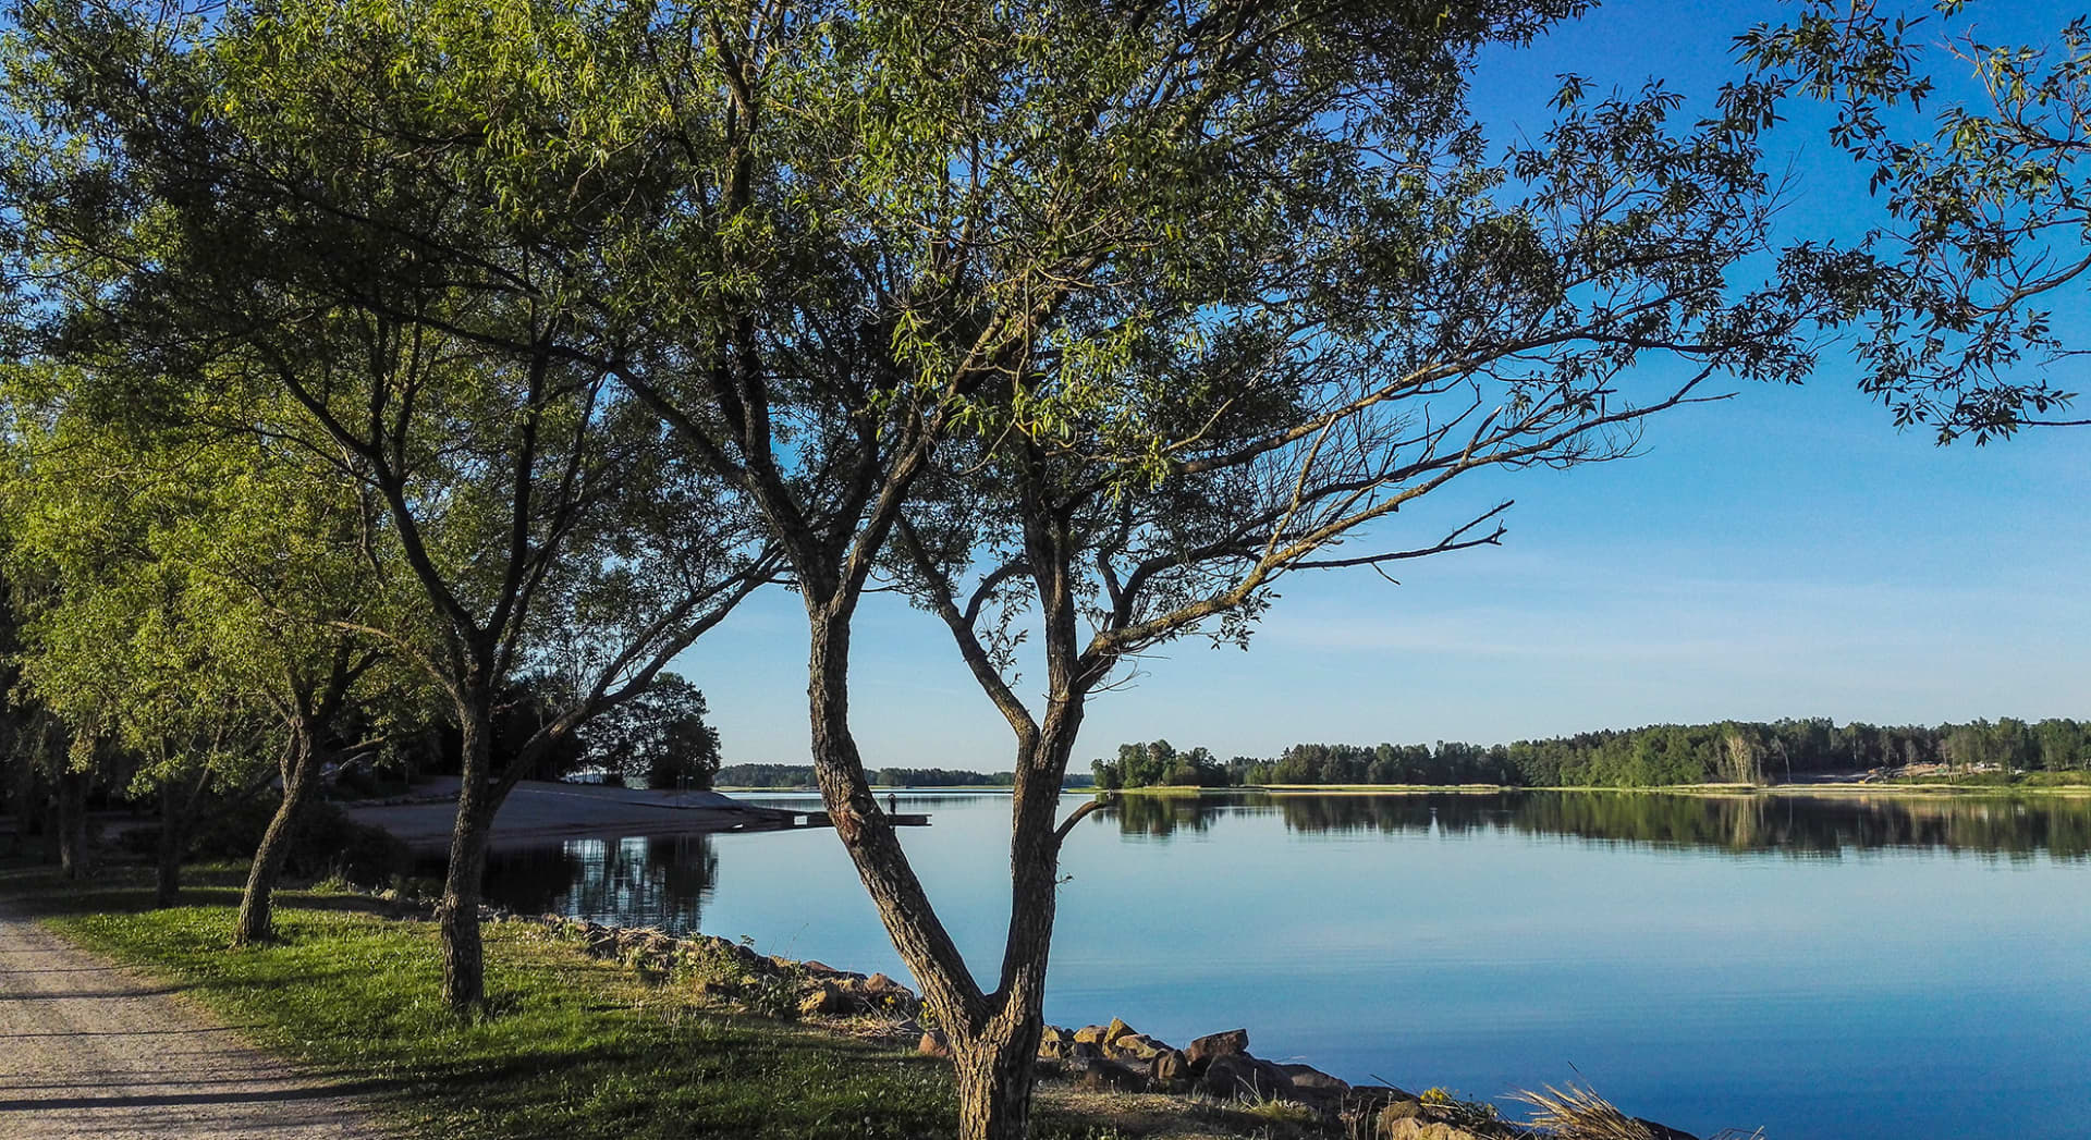
<svg viewBox="0 0 2091 1140">
<path fill-rule="evenodd" d="M 698 929 L 719 876 L 709 835 L 569 839 L 558 847 L 496 853 L 487 895 L 523 914 L 592 922 Z"/>
</svg>

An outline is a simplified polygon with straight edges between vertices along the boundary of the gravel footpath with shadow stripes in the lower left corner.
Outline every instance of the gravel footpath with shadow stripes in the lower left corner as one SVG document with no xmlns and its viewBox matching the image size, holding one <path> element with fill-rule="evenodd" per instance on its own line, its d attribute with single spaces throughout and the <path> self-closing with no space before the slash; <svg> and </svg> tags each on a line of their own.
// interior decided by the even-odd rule
<svg viewBox="0 0 2091 1140">
<path fill-rule="evenodd" d="M 366 1107 L 0 902 L 0 1136 L 376 1140 Z"/>
</svg>

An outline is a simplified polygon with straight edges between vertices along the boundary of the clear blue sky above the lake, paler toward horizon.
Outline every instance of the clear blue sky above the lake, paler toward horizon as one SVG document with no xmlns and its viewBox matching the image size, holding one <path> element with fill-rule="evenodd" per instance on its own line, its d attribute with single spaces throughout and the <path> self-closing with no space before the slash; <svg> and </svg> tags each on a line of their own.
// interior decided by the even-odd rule
<svg viewBox="0 0 2091 1140">
<path fill-rule="evenodd" d="M 1997 36 L 2068 19 L 1976 10 Z M 1729 38 L 1779 13 L 1610 2 L 1489 56 L 1476 107 L 1537 134 L 1560 71 L 1710 92 L 1733 73 Z M 1807 126 L 1775 140 L 1800 176 L 1786 224 L 1834 234 L 1865 220 L 1863 184 Z M 1439 519 L 1516 498 L 1501 548 L 1403 565 L 1399 588 L 1370 571 L 1288 579 L 1246 653 L 1184 640 L 1096 697 L 1077 763 L 1156 736 L 1269 755 L 1723 717 L 2091 717 L 2091 429 L 1934 448 L 1853 383 L 1832 354 L 1805 387 L 1652 420 L 1637 458 L 1451 487 Z M 797 596 L 753 600 L 677 669 L 707 692 L 728 761 L 805 761 Z M 851 680 L 872 766 L 1010 768 L 1008 728 L 926 615 L 870 598 Z"/>
</svg>

